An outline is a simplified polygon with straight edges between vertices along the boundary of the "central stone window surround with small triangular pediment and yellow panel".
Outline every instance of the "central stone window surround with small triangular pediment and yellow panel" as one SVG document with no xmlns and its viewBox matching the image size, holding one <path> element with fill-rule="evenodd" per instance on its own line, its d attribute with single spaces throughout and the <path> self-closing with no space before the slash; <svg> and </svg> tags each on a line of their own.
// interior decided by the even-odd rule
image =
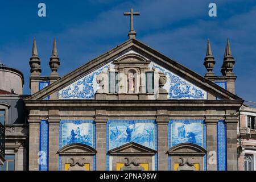
<svg viewBox="0 0 256 182">
<path fill-rule="evenodd" d="M 153 171 L 156 151 L 130 142 L 108 152 L 112 171 Z"/>
</svg>

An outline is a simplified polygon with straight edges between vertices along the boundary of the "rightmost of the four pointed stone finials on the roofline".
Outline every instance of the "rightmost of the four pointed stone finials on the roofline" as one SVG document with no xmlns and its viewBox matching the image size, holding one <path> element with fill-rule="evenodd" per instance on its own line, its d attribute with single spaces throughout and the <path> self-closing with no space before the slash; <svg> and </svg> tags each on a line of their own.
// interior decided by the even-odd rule
<svg viewBox="0 0 256 182">
<path fill-rule="evenodd" d="M 221 67 L 221 73 L 223 76 L 234 76 L 233 68 L 236 61 L 234 61 L 234 57 L 232 56 L 230 43 L 228 39 L 228 43 L 226 44 L 224 61 Z"/>
</svg>

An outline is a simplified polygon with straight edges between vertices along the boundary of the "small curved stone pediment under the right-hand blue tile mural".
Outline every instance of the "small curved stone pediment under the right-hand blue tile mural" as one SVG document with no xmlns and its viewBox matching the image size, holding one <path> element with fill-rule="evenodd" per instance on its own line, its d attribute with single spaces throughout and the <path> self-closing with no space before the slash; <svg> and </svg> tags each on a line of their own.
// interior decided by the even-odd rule
<svg viewBox="0 0 256 182">
<path fill-rule="evenodd" d="M 170 148 L 167 153 L 169 155 L 205 155 L 207 150 L 193 143 L 181 143 Z"/>
</svg>

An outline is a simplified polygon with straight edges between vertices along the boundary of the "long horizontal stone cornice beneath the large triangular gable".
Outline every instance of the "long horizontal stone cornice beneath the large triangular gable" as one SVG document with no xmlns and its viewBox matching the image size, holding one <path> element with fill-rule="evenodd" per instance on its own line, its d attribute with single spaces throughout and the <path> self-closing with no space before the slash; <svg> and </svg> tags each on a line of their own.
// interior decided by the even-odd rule
<svg viewBox="0 0 256 182">
<path fill-rule="evenodd" d="M 242 100 L 25 100 L 26 107 L 230 107 L 238 110 Z M 31 108 L 32 109 L 32 108 Z"/>
</svg>

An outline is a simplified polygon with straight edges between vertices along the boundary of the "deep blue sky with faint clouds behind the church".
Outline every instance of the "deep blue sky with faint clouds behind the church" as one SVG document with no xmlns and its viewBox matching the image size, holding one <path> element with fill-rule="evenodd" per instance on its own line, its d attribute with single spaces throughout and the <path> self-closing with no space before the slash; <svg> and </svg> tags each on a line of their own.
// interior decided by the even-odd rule
<svg viewBox="0 0 256 182">
<path fill-rule="evenodd" d="M 46 3 L 47 17 L 38 16 L 38 4 Z M 210 2 L 217 4 L 217 17 L 208 16 Z M 221 75 L 227 38 L 236 60 L 236 94 L 256 101 L 256 1 L 254 0 L 88 0 L 0 2 L 0 63 L 24 73 L 24 94 L 29 94 L 32 39 L 35 37 L 42 76 L 51 72 L 48 61 L 53 38 L 61 76 L 94 57 L 125 42 L 133 8 L 137 39 L 204 76 L 207 39 L 216 60 L 214 73 Z"/>
</svg>

